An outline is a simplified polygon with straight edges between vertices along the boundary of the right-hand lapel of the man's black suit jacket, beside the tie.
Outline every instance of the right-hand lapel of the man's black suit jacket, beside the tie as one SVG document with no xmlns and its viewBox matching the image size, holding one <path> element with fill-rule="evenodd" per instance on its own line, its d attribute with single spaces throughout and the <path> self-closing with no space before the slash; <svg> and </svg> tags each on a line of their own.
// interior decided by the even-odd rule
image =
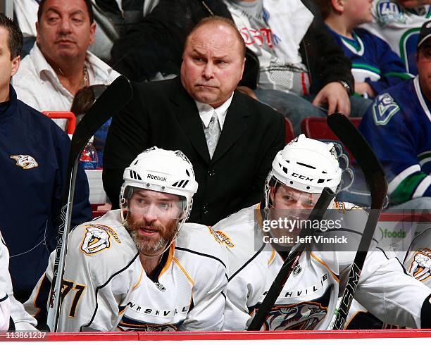
<svg viewBox="0 0 431 345">
<path fill-rule="evenodd" d="M 246 131 L 246 118 L 248 117 L 246 103 L 240 101 L 237 95 L 234 94 L 232 103 L 230 103 L 230 107 L 227 109 L 223 130 L 218 139 L 211 163 L 215 163 L 215 161 L 220 159 L 235 144 L 239 137 L 242 136 Z"/>
</svg>

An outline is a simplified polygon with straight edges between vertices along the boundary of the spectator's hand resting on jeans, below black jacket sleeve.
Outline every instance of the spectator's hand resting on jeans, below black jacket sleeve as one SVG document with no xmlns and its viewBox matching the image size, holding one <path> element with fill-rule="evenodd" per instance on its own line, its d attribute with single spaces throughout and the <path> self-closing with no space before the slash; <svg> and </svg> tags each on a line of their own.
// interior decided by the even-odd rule
<svg viewBox="0 0 431 345">
<path fill-rule="evenodd" d="M 313 106 L 322 106 L 325 103 L 327 103 L 327 115 L 335 111 L 346 116 L 350 115 L 349 94 L 339 82 L 326 84 L 313 100 Z"/>
</svg>

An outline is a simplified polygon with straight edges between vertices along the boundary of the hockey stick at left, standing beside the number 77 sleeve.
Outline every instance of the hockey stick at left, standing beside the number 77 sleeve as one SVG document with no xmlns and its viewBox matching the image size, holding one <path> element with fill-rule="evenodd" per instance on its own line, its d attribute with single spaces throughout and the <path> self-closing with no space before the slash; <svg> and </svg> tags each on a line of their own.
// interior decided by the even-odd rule
<svg viewBox="0 0 431 345">
<path fill-rule="evenodd" d="M 52 275 L 51 291 L 49 293 L 49 306 L 47 325 L 51 332 L 57 331 L 58 314 L 61 307 L 61 291 L 63 287 L 63 273 L 65 255 L 72 218 L 73 194 L 75 194 L 75 181 L 79 158 L 87 142 L 99 128 L 118 113 L 132 98 L 132 88 L 126 77 L 120 76 L 94 102 L 87 114 L 77 125 L 70 143 L 68 168 L 61 202 L 61 224 L 58 227 L 56 258 Z"/>
</svg>

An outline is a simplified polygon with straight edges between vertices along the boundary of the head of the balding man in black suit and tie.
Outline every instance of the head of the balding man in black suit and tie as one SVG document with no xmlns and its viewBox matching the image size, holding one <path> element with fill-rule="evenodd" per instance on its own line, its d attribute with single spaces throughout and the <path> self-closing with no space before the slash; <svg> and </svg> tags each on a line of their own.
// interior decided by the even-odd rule
<svg viewBox="0 0 431 345">
<path fill-rule="evenodd" d="M 181 82 L 190 96 L 213 108 L 222 105 L 242 78 L 245 58 L 232 28 L 208 24 L 189 37 Z"/>
</svg>

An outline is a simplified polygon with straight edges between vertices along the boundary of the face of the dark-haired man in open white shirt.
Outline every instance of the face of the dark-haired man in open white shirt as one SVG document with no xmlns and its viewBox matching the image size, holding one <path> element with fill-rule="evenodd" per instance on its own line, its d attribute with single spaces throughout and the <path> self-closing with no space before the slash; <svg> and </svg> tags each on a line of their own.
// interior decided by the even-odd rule
<svg viewBox="0 0 431 345">
<path fill-rule="evenodd" d="M 36 29 L 46 60 L 58 63 L 85 56 L 94 42 L 96 24 L 90 23 L 84 0 L 48 0 Z"/>
</svg>

